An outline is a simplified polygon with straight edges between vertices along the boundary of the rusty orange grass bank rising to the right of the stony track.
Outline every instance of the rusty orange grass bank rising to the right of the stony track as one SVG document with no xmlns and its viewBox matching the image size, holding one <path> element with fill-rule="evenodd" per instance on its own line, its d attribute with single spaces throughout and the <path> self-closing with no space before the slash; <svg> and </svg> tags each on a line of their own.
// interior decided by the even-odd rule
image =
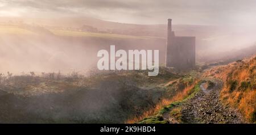
<svg viewBox="0 0 256 135">
<path fill-rule="evenodd" d="M 222 79 L 223 102 L 238 108 L 251 123 L 256 122 L 256 57 L 210 69 L 205 77 Z"/>
</svg>

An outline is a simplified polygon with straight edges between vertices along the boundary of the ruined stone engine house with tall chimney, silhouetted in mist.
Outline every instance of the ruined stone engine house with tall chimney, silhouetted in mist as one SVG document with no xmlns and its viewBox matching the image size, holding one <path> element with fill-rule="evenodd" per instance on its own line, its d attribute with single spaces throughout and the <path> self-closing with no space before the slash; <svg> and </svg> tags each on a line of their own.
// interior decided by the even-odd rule
<svg viewBox="0 0 256 135">
<path fill-rule="evenodd" d="M 193 69 L 196 64 L 196 37 L 175 36 L 172 19 L 168 19 L 166 67 Z"/>
</svg>

